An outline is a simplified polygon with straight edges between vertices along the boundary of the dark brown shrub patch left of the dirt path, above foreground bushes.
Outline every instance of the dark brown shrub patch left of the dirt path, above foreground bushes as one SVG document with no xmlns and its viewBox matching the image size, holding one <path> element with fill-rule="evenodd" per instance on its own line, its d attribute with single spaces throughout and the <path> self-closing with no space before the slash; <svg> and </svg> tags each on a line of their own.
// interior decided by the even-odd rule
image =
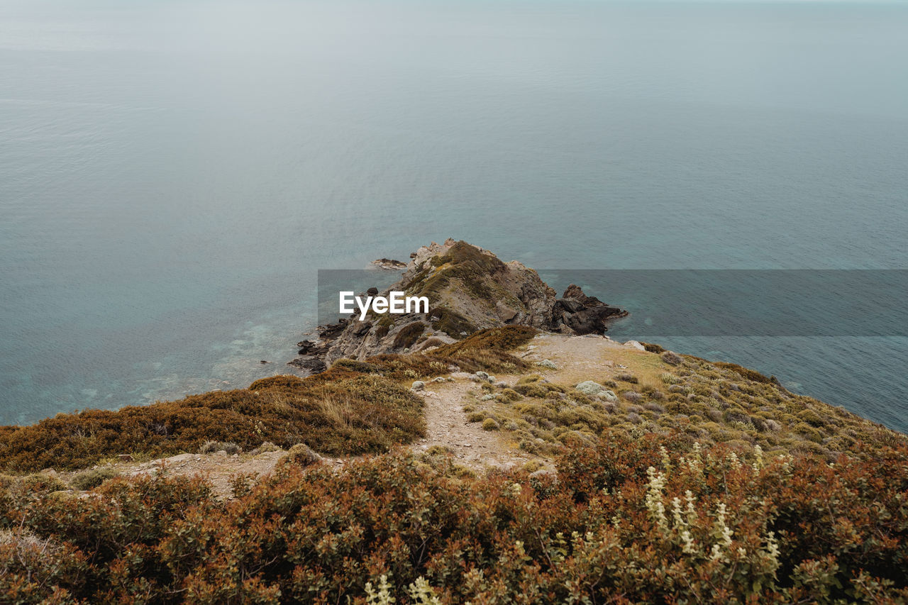
<svg viewBox="0 0 908 605">
<path fill-rule="evenodd" d="M 157 458 L 198 451 L 206 441 L 232 442 L 246 451 L 263 441 L 284 448 L 305 442 L 329 454 L 358 454 L 387 451 L 423 434 L 422 400 L 409 389 L 381 376 L 329 372 L 331 378 L 275 376 L 249 389 L 116 412 L 58 414 L 8 432 L 0 466 L 77 469 L 125 452 Z"/>
</svg>

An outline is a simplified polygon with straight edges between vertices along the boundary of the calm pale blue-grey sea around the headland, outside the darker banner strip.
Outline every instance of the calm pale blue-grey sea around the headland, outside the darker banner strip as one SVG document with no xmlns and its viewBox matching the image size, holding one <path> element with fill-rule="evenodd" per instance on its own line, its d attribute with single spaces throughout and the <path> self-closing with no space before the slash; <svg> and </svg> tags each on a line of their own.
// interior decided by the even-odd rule
<svg viewBox="0 0 908 605">
<path fill-rule="evenodd" d="M 448 236 L 908 267 L 906 31 L 903 4 L 5 0 L 0 422 L 284 372 L 317 269 Z M 906 431 L 906 340 L 666 344 Z"/>
</svg>

